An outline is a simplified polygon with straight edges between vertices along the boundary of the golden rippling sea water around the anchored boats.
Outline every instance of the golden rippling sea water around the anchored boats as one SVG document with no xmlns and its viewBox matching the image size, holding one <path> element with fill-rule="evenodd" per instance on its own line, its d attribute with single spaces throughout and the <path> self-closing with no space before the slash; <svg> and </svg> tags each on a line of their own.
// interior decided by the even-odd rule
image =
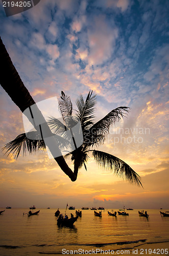
<svg viewBox="0 0 169 256">
<path fill-rule="evenodd" d="M 58 227 L 56 210 L 40 209 L 39 215 L 27 217 L 23 212 L 28 209 L 5 209 L 0 215 L 0 255 L 72 255 L 74 250 L 79 254 L 107 251 L 105 254 L 111 255 L 108 250 L 114 250 L 114 254 L 122 255 L 126 254 L 125 250 L 132 252 L 139 245 L 169 242 L 169 218 L 161 217 L 159 209 L 147 210 L 148 219 L 139 217 L 136 209 L 126 210 L 129 216 L 117 217 L 108 216 L 105 209 L 102 218 L 94 216 L 93 210 L 82 210 L 82 217 L 72 228 Z M 60 211 L 64 214 L 65 209 Z M 75 216 L 75 210 L 67 209 L 69 217 L 71 212 Z M 166 251 L 160 253 L 157 254 L 168 255 Z"/>
</svg>

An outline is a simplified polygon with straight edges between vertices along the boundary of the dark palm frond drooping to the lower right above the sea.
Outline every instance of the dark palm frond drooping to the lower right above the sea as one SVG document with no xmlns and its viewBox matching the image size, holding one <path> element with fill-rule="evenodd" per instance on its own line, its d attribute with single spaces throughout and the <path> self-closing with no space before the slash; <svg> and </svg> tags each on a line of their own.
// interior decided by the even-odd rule
<svg viewBox="0 0 169 256">
<path fill-rule="evenodd" d="M 120 176 L 137 186 L 142 186 L 140 176 L 136 174 L 127 163 L 118 157 L 96 150 L 94 150 L 92 154 L 96 162 L 103 168 L 108 169 L 111 172 L 114 171 L 115 175 Z"/>
</svg>

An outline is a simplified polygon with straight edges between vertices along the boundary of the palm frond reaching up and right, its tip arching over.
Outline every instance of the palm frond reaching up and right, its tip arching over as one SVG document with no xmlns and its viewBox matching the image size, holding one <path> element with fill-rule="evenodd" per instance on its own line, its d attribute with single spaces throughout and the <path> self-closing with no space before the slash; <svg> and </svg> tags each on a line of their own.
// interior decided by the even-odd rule
<svg viewBox="0 0 169 256">
<path fill-rule="evenodd" d="M 128 108 L 127 106 L 120 106 L 115 110 L 111 110 L 105 117 L 103 117 L 98 122 L 93 124 L 92 127 L 90 127 L 88 131 L 88 140 L 89 137 L 91 137 L 91 141 L 95 141 L 95 144 L 97 146 L 102 144 L 105 140 L 106 134 L 109 132 L 110 125 L 125 117 L 126 114 L 129 112 L 129 109 L 130 108 Z"/>
</svg>

